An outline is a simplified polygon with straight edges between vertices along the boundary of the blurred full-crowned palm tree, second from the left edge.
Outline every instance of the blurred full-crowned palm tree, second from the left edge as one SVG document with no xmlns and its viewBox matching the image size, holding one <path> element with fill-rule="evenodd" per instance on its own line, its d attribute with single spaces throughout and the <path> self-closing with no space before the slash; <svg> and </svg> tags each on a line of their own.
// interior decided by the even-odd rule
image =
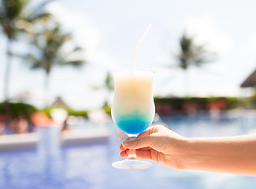
<svg viewBox="0 0 256 189">
<path fill-rule="evenodd" d="M 81 58 L 82 48 L 74 47 L 69 52 L 65 51 L 64 45 L 71 40 L 71 35 L 62 33 L 59 24 L 54 28 L 45 28 L 44 31 L 35 34 L 32 38 L 33 52 L 24 54 L 21 57 L 26 61 L 31 69 L 43 69 L 46 73 L 45 91 L 49 91 L 50 72 L 54 66 L 72 65 L 80 67 L 85 62 Z M 46 98 L 47 106 L 47 98 Z"/>
</svg>

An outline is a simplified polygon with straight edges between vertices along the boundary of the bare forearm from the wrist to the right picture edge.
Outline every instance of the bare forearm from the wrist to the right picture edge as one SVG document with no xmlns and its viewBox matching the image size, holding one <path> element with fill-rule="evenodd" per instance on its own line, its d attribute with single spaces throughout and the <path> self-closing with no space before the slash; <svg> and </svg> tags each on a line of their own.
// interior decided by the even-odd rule
<svg viewBox="0 0 256 189">
<path fill-rule="evenodd" d="M 184 169 L 256 176 L 256 135 L 187 139 L 180 157 Z"/>
</svg>

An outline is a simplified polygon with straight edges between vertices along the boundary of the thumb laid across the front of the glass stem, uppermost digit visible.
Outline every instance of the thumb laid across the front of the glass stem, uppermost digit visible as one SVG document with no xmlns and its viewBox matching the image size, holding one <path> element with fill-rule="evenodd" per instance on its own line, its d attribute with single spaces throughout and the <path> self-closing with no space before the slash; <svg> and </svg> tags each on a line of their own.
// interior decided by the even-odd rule
<svg viewBox="0 0 256 189">
<path fill-rule="evenodd" d="M 150 135 L 147 135 L 140 139 L 128 139 L 124 140 L 122 143 L 124 147 L 130 149 L 139 149 L 142 147 L 152 146 L 153 138 Z"/>
</svg>

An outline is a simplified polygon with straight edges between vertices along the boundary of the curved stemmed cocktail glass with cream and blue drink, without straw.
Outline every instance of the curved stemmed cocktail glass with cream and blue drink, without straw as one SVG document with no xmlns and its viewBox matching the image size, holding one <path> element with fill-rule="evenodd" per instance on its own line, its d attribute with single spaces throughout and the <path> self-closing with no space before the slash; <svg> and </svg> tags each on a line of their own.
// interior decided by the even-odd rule
<svg viewBox="0 0 256 189">
<path fill-rule="evenodd" d="M 111 108 L 113 122 L 129 139 L 144 132 L 154 120 L 154 99 L 152 86 L 154 72 L 146 70 L 125 70 L 113 72 L 114 98 Z M 117 169 L 146 169 L 152 164 L 136 157 L 130 149 L 128 158 L 113 162 Z"/>
</svg>

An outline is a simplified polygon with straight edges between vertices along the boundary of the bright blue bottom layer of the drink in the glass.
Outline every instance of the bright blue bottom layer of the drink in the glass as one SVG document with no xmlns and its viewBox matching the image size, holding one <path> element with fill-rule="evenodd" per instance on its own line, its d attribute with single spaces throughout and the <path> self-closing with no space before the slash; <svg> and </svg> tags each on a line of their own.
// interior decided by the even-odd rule
<svg viewBox="0 0 256 189">
<path fill-rule="evenodd" d="M 143 114 L 116 115 L 115 123 L 122 132 L 139 134 L 144 132 L 152 123 L 152 118 Z"/>
</svg>

